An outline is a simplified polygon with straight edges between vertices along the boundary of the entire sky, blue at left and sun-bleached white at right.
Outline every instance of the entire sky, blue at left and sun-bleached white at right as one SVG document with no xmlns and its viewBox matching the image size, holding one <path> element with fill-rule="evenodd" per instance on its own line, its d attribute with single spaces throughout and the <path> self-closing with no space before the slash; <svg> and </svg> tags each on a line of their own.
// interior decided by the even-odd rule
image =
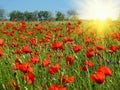
<svg viewBox="0 0 120 90">
<path fill-rule="evenodd" d="M 93 11 L 97 6 L 107 8 L 104 12 L 109 11 L 107 14 L 111 17 L 120 14 L 120 0 L 0 0 L 0 8 L 5 9 L 7 13 L 13 10 L 22 12 L 48 10 L 53 13 L 56 11 L 67 13 L 72 9 L 76 10 L 81 18 L 87 19 L 94 18 L 94 13 L 101 11 L 98 9 Z"/>
</svg>

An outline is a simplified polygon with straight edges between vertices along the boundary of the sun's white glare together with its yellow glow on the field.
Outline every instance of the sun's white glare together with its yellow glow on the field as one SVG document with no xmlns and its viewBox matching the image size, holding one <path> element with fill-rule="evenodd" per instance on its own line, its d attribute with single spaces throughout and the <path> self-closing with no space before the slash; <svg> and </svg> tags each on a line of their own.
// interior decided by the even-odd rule
<svg viewBox="0 0 120 90">
<path fill-rule="evenodd" d="M 74 0 L 73 3 L 80 19 L 94 20 L 90 25 L 98 33 L 97 36 L 110 32 L 110 24 L 120 13 L 120 0 Z"/>
</svg>

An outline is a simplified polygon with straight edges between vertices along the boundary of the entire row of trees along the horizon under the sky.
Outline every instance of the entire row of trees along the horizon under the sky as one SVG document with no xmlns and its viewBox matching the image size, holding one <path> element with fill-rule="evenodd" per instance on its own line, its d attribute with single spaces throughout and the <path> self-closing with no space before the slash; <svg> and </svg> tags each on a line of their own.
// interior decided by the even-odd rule
<svg viewBox="0 0 120 90">
<path fill-rule="evenodd" d="M 62 21 L 66 20 L 70 17 L 75 18 L 77 15 L 77 12 L 75 10 L 68 10 L 67 15 L 65 15 L 61 11 L 57 11 L 55 14 L 53 14 L 51 11 L 12 11 L 8 14 L 9 20 L 24 20 L 24 21 L 38 21 L 38 20 L 57 20 Z M 0 9 L 0 20 L 6 19 L 6 13 L 4 9 Z"/>
</svg>

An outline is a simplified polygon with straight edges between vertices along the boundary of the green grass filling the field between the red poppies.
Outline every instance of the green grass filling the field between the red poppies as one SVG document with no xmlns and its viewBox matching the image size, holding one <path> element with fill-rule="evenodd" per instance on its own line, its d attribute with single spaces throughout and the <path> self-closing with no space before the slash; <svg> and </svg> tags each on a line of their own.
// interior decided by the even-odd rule
<svg viewBox="0 0 120 90">
<path fill-rule="evenodd" d="M 11 23 L 13 26 L 5 28 L 6 23 Z M 119 40 L 115 40 L 112 39 L 111 35 L 111 33 L 120 34 L 120 25 L 118 26 L 118 22 L 110 23 L 112 27 L 109 27 L 110 24 L 108 23 L 108 26 L 104 27 L 104 30 L 106 31 L 104 31 L 105 34 L 103 34 L 104 36 L 102 36 L 102 38 L 101 35 L 99 36 L 99 34 L 97 33 L 99 27 L 95 26 L 92 21 L 83 21 L 80 25 L 77 24 L 77 22 L 71 22 L 71 25 L 67 28 L 67 22 L 64 21 L 26 22 L 26 29 L 22 28 L 21 30 L 13 28 L 21 27 L 21 23 L 16 23 L 17 22 L 5 22 L 4 24 L 0 25 L 0 39 L 4 41 L 4 45 L 0 46 L 4 53 L 4 55 L 0 57 L 1 90 L 14 90 L 14 84 L 18 84 L 20 90 L 47 90 L 51 84 L 64 86 L 68 88 L 68 90 L 119 90 L 120 63 L 118 62 L 120 61 L 120 50 L 117 50 L 113 54 L 110 54 L 108 52 L 110 46 L 120 46 L 120 38 Z M 36 23 L 39 23 L 39 27 L 44 26 L 45 29 L 36 30 L 34 28 Z M 61 28 L 61 30 L 54 32 L 54 28 Z M 70 35 L 66 32 L 68 29 L 72 30 L 72 33 Z M 8 34 L 3 34 L 1 30 L 8 31 Z M 81 31 L 82 33 L 78 35 L 75 30 Z M 14 31 L 13 36 L 10 35 L 11 31 Z M 46 32 L 48 31 L 51 32 L 51 38 L 49 39 L 51 40 L 51 42 L 40 43 L 40 40 L 45 37 Z M 28 35 L 28 32 L 34 32 L 34 34 Z M 94 32 L 94 35 L 91 34 L 91 32 Z M 72 42 L 72 44 L 65 44 L 63 42 L 64 37 L 55 37 L 55 34 L 64 34 L 64 37 L 72 37 L 74 38 L 74 41 Z M 21 36 L 24 36 L 25 39 L 22 40 Z M 31 46 L 29 39 L 36 36 L 37 46 Z M 85 37 L 87 36 L 91 40 L 88 46 L 85 43 Z M 19 40 L 13 40 L 13 38 L 18 38 Z M 54 43 L 54 38 L 56 38 L 56 41 L 63 43 L 65 50 L 52 50 L 51 46 Z M 12 42 L 17 43 L 18 46 L 13 47 Z M 84 49 L 77 53 L 74 53 L 72 49 L 73 44 L 82 45 L 84 46 Z M 25 45 L 29 46 L 33 53 L 15 54 L 16 49 L 21 49 Z M 90 60 L 94 63 L 94 67 L 87 68 L 86 71 L 80 70 L 80 66 L 83 66 L 84 61 L 88 60 L 85 55 L 87 49 L 94 48 L 96 50 L 95 45 L 104 46 L 106 48 L 104 51 L 99 52 L 103 58 L 95 54 L 92 58 L 90 58 Z M 40 47 L 42 47 L 42 49 Z M 31 66 L 34 69 L 33 73 L 35 74 L 36 78 L 33 84 L 29 84 L 27 81 L 22 79 L 23 75 L 27 73 L 23 73 L 20 70 L 13 70 L 13 65 L 15 64 L 16 57 L 20 58 L 21 63 L 29 62 L 30 58 L 34 55 L 34 52 L 40 52 L 38 54 L 40 62 L 36 65 Z M 43 68 L 42 61 L 48 59 L 46 57 L 48 53 L 52 53 L 53 55 L 51 58 L 49 58 L 51 60 L 51 64 L 48 67 Z M 63 56 L 58 58 L 58 54 L 62 54 Z M 66 64 L 66 56 L 68 55 L 72 55 L 75 58 L 75 62 L 72 66 L 67 66 Z M 108 64 L 106 60 L 114 61 L 115 64 Z M 60 70 L 54 75 L 49 74 L 49 67 L 57 63 L 61 65 Z M 112 77 L 107 76 L 104 83 L 97 84 L 96 82 L 93 82 L 91 80 L 90 76 L 94 74 L 101 65 L 109 67 L 112 70 L 113 75 Z M 73 83 L 62 84 L 60 82 L 61 75 L 74 76 L 75 80 Z M 11 80 L 14 80 L 14 82 L 12 82 Z"/>
</svg>

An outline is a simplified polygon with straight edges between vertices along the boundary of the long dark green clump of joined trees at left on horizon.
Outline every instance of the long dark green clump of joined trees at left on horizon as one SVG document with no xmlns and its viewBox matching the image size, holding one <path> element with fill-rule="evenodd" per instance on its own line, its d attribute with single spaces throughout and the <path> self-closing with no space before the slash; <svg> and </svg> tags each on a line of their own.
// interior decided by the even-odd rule
<svg viewBox="0 0 120 90">
<path fill-rule="evenodd" d="M 10 20 L 25 20 L 25 21 L 33 21 L 33 20 L 52 20 L 53 15 L 50 11 L 34 11 L 34 12 L 20 12 L 20 11 L 12 11 L 10 14 Z"/>
</svg>

